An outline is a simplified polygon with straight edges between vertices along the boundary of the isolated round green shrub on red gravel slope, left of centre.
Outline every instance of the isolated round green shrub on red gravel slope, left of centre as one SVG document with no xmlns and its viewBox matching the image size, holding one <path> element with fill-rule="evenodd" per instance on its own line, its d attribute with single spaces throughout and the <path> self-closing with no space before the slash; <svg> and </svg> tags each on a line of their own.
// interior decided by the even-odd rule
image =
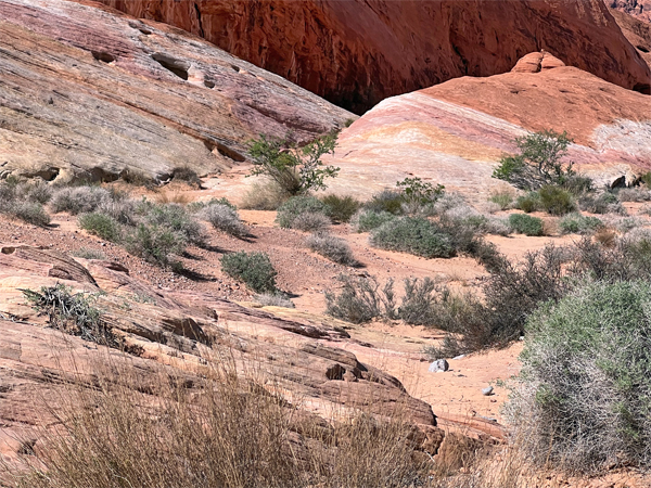
<svg viewBox="0 0 651 488">
<path fill-rule="evenodd" d="M 231 253 L 221 257 L 221 270 L 257 293 L 275 292 L 278 272 L 266 253 Z"/>
</svg>

